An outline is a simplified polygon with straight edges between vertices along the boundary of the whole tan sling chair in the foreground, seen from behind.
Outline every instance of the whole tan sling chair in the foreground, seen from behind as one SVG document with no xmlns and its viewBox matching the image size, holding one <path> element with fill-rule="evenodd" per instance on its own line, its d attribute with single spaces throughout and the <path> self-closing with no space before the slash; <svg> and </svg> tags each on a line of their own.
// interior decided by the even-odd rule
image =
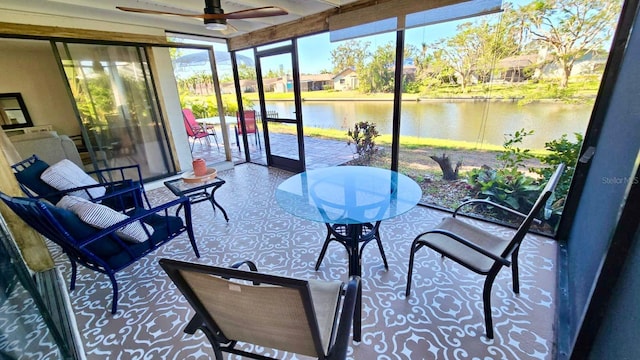
<svg viewBox="0 0 640 360">
<path fill-rule="evenodd" d="M 195 310 L 185 332 L 202 330 L 216 359 L 223 351 L 271 359 L 237 349 L 238 341 L 319 359 L 346 357 L 359 277 L 345 286 L 170 259 L 160 265 Z"/>
</svg>

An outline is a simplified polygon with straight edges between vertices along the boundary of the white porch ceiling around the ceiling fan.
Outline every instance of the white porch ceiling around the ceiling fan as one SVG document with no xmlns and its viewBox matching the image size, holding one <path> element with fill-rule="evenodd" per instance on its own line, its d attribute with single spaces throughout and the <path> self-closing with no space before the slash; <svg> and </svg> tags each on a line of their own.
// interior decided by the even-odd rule
<svg viewBox="0 0 640 360">
<path fill-rule="evenodd" d="M 116 6 L 143 8 L 150 10 L 179 13 L 202 13 L 204 0 L 2 0 L 0 12 L 11 10 L 34 19 L 55 17 L 72 18 L 74 21 L 105 20 L 123 25 L 152 27 L 171 32 L 183 32 L 229 38 L 272 25 L 282 24 L 339 7 L 357 0 L 221 0 L 225 13 L 246 10 L 254 7 L 279 6 L 288 11 L 288 15 L 256 18 L 247 20 L 228 20 L 238 31 L 222 33 L 204 28 L 202 19 L 169 15 L 150 15 L 123 12 Z M 3 20 L 4 21 L 4 20 Z M 63 21 L 64 23 L 64 21 Z M 38 25 L 44 25 L 38 23 Z M 75 25 L 75 24 L 74 24 Z M 77 27 L 72 24 L 67 26 Z M 57 25 L 62 26 L 62 25 Z M 118 31 L 118 29 L 113 29 Z"/>
</svg>

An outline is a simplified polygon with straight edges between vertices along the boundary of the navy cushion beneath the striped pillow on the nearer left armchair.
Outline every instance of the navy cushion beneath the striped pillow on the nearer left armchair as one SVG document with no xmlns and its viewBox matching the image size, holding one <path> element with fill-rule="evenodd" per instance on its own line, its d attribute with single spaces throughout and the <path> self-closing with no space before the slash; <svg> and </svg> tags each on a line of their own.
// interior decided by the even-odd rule
<svg viewBox="0 0 640 360">
<path fill-rule="evenodd" d="M 47 204 L 47 208 L 53 216 L 60 222 L 69 234 L 76 240 L 82 241 L 91 238 L 99 230 L 86 224 L 73 212 Z M 56 241 L 63 248 L 68 246 L 60 244 L 60 241 L 68 241 L 65 239 L 51 239 Z M 77 244 L 73 244 L 77 248 Z M 126 249 L 125 249 L 126 247 Z M 147 240 L 142 243 L 132 243 L 115 239 L 114 236 L 103 237 L 85 246 L 86 250 L 93 253 L 97 258 L 106 262 L 112 269 L 117 270 L 131 264 L 140 258 L 146 251 L 151 249 L 151 241 Z M 127 251 L 128 249 L 128 251 Z M 87 256 L 87 259 L 90 259 Z M 87 260 L 84 259 L 84 260 Z"/>
</svg>

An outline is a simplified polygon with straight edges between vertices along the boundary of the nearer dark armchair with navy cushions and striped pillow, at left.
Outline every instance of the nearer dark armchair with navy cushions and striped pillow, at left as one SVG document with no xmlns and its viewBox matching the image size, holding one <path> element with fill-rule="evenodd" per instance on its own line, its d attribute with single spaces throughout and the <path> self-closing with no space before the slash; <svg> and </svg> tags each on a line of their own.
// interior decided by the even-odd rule
<svg viewBox="0 0 640 360">
<path fill-rule="evenodd" d="M 138 192 L 138 194 L 131 194 Z M 189 199 L 180 197 L 165 204 L 145 208 L 140 188 L 123 188 L 104 199 L 115 203 L 133 199 L 134 206 L 119 212 L 86 199 L 66 195 L 57 205 L 26 197 L 0 198 L 29 226 L 59 245 L 71 261 L 70 289 L 75 288 L 77 264 L 106 274 L 113 286 L 111 312 L 118 304 L 115 274 L 169 240 L 187 232 L 191 247 L 200 257 L 191 224 Z M 185 220 L 169 215 L 169 209 L 184 207 Z M 173 209 L 172 209 L 173 211 Z"/>
</svg>

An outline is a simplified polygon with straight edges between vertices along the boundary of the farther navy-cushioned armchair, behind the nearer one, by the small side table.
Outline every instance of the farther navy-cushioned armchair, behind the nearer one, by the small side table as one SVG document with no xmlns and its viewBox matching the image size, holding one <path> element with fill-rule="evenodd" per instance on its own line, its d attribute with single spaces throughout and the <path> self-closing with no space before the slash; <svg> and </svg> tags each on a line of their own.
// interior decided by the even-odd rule
<svg viewBox="0 0 640 360">
<path fill-rule="evenodd" d="M 105 168 L 89 172 L 84 172 L 84 170 L 82 170 L 83 173 L 93 180 L 93 182 L 89 183 L 95 184 L 96 186 L 70 186 L 66 189 L 57 189 L 42 180 L 41 177 L 43 173 L 45 173 L 45 171 L 50 167 L 51 166 L 49 164 L 39 159 L 37 155 L 33 155 L 11 166 L 23 193 L 31 198 L 43 198 L 53 204 L 56 204 L 64 195 L 76 193 L 76 195 L 90 199 L 94 202 L 100 201 L 100 198 L 106 196 L 106 198 L 102 200 L 102 203 L 116 210 L 134 207 L 136 203 L 142 204 L 143 200 L 147 207 L 151 206 L 144 190 L 139 165 Z M 78 190 L 78 188 L 82 188 L 82 190 Z M 113 192 L 129 188 L 139 189 L 139 191 L 130 192 L 129 195 L 139 196 L 140 198 L 132 199 L 124 198 L 122 196 L 108 196 Z M 97 193 L 93 191 L 98 189 L 104 190 Z M 78 194 L 79 192 L 83 194 Z M 119 204 L 117 202 L 119 202 Z"/>
</svg>

